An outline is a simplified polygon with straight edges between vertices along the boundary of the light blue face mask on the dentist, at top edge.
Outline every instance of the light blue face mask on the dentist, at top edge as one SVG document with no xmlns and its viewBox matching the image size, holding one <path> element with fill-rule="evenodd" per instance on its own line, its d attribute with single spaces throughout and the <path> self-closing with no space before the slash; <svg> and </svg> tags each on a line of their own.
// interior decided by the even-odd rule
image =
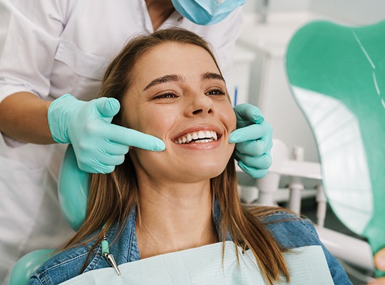
<svg viewBox="0 0 385 285">
<path fill-rule="evenodd" d="M 175 9 L 198 25 L 212 25 L 225 19 L 246 0 L 172 0 Z"/>
</svg>

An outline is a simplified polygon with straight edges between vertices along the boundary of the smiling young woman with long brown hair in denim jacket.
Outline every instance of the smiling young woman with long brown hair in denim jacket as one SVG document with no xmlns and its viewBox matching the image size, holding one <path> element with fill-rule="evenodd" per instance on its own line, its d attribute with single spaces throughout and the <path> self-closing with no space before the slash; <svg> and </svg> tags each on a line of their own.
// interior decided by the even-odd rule
<svg viewBox="0 0 385 285">
<path fill-rule="evenodd" d="M 165 150 L 132 148 L 114 172 L 93 175 L 86 222 L 30 284 L 119 273 L 121 264 L 227 240 L 251 250 L 267 284 L 289 281 L 284 252 L 309 245 L 322 247 L 335 284 L 350 284 L 311 222 L 240 203 L 228 142 L 235 113 L 202 38 L 183 29 L 134 38 L 108 67 L 101 97 L 120 103 L 113 123 L 160 138 Z"/>
</svg>

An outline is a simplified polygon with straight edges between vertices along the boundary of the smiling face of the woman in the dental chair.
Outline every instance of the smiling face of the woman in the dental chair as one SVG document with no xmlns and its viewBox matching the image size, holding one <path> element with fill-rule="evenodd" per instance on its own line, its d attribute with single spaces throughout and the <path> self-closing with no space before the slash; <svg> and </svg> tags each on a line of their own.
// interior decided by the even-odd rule
<svg viewBox="0 0 385 285">
<path fill-rule="evenodd" d="M 132 148 L 138 177 L 198 182 L 225 169 L 236 128 L 225 81 L 205 49 L 162 43 L 143 53 L 123 100 L 125 123 L 165 142 L 163 152 Z"/>
</svg>

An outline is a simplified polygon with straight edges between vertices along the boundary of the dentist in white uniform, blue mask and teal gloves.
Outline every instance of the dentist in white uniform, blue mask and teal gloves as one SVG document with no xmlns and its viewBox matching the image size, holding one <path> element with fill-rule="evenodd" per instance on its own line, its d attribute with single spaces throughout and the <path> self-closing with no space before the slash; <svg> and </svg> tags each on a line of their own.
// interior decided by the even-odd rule
<svg viewBox="0 0 385 285">
<path fill-rule="evenodd" d="M 96 98 L 101 78 L 138 33 L 178 26 L 207 38 L 227 81 L 245 0 L 0 0 L 0 283 L 34 249 L 71 236 L 59 210 L 66 144 L 81 170 L 112 172 L 129 147 L 162 151 L 158 138 L 112 125 L 120 106 Z M 235 107 L 238 164 L 252 177 L 271 165 L 271 126 Z M 260 123 L 262 122 L 262 123 Z M 58 143 L 55 143 L 58 142 Z"/>
</svg>

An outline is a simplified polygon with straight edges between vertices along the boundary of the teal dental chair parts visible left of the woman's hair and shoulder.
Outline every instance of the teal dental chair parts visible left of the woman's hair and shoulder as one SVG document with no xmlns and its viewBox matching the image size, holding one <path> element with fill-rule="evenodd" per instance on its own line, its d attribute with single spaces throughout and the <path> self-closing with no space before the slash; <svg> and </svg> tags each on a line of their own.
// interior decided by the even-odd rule
<svg viewBox="0 0 385 285">
<path fill-rule="evenodd" d="M 79 170 L 72 145 L 68 145 L 58 178 L 58 199 L 63 216 L 74 231 L 86 218 L 88 173 Z M 28 284 L 29 277 L 53 254 L 54 249 L 37 249 L 21 257 L 12 269 L 9 285 Z"/>
</svg>

